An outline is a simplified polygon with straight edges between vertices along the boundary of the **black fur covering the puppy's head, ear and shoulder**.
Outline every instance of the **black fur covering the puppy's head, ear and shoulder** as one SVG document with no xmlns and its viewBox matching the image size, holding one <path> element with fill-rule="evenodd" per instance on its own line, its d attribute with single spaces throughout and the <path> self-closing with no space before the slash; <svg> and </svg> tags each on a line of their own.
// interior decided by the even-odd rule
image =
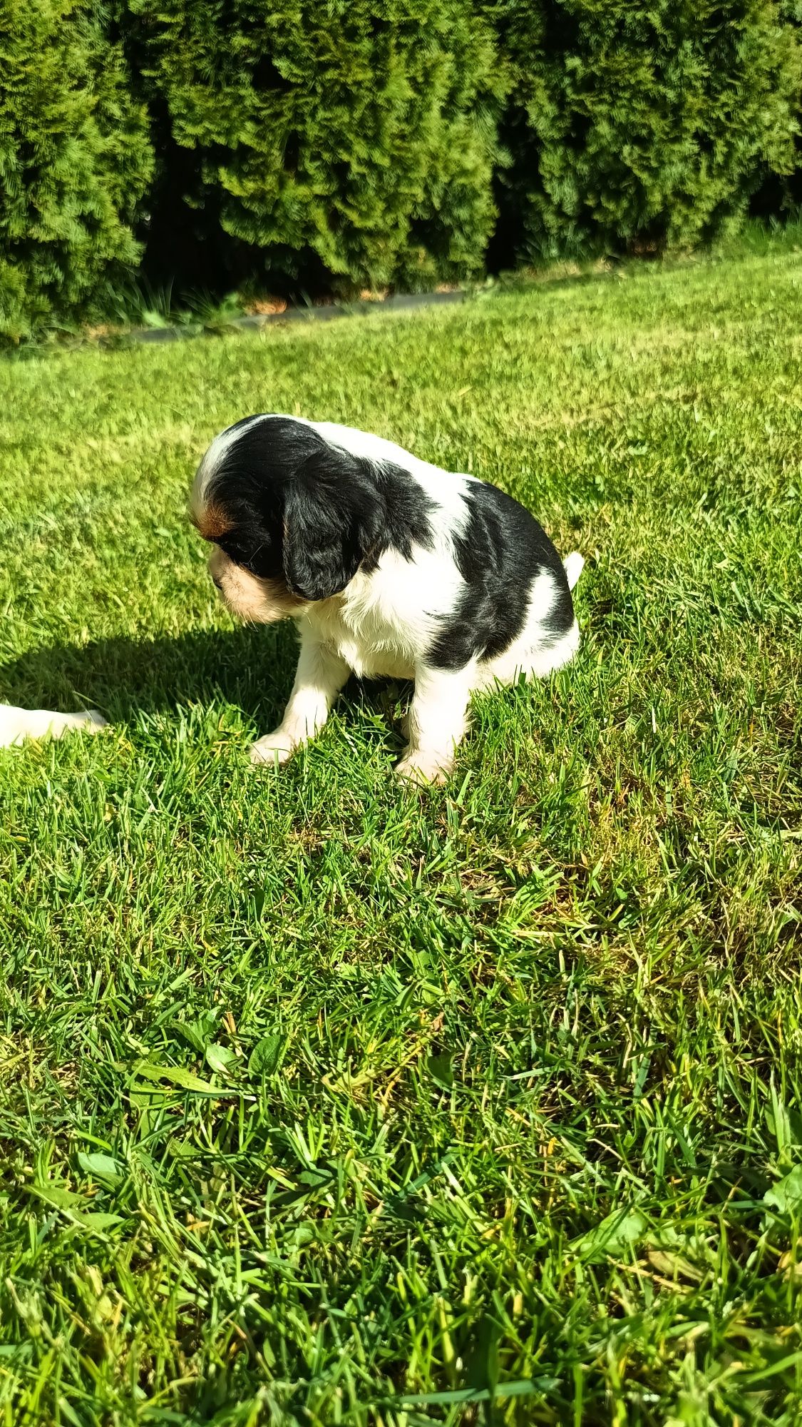
<svg viewBox="0 0 802 1427">
<path fill-rule="evenodd" d="M 410 558 L 431 545 L 431 502 L 407 471 L 331 445 L 285 417 L 238 421 L 207 502 L 231 529 L 217 544 L 263 579 L 281 579 L 303 599 L 327 599 L 385 549 Z"/>
</svg>

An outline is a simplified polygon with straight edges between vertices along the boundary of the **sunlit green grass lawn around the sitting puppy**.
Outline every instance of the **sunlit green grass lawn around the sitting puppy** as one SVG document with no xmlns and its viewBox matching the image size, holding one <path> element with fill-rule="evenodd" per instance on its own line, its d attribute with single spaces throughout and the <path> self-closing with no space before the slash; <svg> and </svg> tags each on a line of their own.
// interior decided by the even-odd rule
<svg viewBox="0 0 802 1427">
<path fill-rule="evenodd" d="M 0 364 L 0 1423 L 802 1416 L 802 258 Z M 198 454 L 285 410 L 525 499 L 578 661 L 445 789 L 254 772 Z"/>
</svg>

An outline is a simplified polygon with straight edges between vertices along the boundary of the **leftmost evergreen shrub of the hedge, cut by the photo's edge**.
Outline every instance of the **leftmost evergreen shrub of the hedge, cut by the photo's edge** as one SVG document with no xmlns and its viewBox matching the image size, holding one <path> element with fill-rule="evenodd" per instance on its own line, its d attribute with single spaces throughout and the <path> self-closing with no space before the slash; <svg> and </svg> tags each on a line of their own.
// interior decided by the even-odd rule
<svg viewBox="0 0 802 1427">
<path fill-rule="evenodd" d="M 120 50 L 76 0 L 3 0 L 0 71 L 0 335 L 17 340 L 137 258 L 153 156 Z"/>
</svg>

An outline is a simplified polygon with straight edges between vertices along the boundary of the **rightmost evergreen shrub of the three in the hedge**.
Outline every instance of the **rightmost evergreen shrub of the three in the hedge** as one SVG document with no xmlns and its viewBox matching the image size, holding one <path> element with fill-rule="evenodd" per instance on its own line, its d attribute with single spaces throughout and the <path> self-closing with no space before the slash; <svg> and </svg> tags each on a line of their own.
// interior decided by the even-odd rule
<svg viewBox="0 0 802 1427">
<path fill-rule="evenodd" d="M 501 0 L 514 76 L 507 253 L 661 250 L 721 233 L 793 166 L 801 68 L 769 0 Z"/>
</svg>

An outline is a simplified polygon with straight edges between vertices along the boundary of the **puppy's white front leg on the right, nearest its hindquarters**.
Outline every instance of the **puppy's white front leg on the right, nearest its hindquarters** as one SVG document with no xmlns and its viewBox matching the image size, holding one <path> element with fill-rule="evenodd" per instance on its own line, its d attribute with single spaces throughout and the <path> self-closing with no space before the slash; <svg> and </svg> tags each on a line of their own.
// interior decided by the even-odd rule
<svg viewBox="0 0 802 1427">
<path fill-rule="evenodd" d="M 410 705 L 410 745 L 395 772 L 415 783 L 442 783 L 454 766 L 454 751 L 468 726 L 468 699 L 475 665 L 464 669 L 415 671 Z"/>
</svg>

